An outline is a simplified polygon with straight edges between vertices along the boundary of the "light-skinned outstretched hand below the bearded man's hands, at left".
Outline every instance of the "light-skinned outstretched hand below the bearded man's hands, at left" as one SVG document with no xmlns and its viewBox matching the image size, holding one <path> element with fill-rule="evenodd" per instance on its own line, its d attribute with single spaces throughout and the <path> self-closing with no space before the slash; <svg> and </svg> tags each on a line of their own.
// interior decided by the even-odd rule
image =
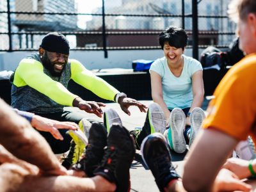
<svg viewBox="0 0 256 192">
<path fill-rule="evenodd" d="M 58 129 L 76 130 L 79 128 L 78 125 L 73 122 L 59 122 L 38 115 L 33 116 L 31 126 L 35 127 L 38 131 L 50 132 L 56 140 L 63 140 L 63 136 L 61 136 Z"/>
</svg>

